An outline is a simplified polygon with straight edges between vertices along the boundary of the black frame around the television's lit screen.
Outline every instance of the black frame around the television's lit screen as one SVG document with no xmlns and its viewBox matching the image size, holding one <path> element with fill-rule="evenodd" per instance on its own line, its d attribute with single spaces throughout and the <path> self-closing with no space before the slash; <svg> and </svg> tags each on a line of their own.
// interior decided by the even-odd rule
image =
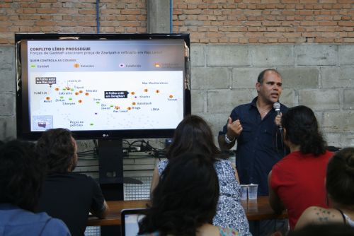
<svg viewBox="0 0 354 236">
<path fill-rule="evenodd" d="M 23 90 L 21 76 L 21 40 L 154 40 L 154 39 L 183 39 L 190 49 L 189 34 L 42 34 L 20 33 L 15 34 L 16 54 L 16 129 L 17 137 L 27 140 L 37 140 L 43 131 L 30 131 L 30 117 L 28 106 L 24 106 L 23 98 L 27 91 Z M 184 89 L 183 117 L 191 112 L 190 100 L 190 55 L 185 61 L 186 84 Z M 28 98 L 28 95 L 27 95 Z M 28 103 L 28 101 L 27 101 Z M 24 117 L 25 116 L 25 117 Z M 122 139 L 122 138 L 171 138 L 175 129 L 126 129 L 126 130 L 87 130 L 72 131 L 76 139 Z"/>
</svg>

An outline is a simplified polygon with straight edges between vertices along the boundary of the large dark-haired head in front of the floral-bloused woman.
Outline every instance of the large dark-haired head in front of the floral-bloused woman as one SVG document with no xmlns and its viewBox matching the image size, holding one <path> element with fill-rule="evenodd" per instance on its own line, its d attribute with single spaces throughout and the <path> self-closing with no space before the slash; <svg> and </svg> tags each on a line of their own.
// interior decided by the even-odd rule
<svg viewBox="0 0 354 236">
<path fill-rule="evenodd" d="M 212 222 L 218 199 L 211 160 L 198 153 L 172 158 L 152 192 L 152 206 L 139 222 L 139 233 L 195 235 L 197 228 Z"/>
</svg>

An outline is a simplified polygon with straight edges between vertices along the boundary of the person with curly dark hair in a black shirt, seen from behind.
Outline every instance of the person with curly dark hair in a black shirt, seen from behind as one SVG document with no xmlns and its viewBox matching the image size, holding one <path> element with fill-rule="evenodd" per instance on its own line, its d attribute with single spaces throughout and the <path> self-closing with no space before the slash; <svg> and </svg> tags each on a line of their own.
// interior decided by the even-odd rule
<svg viewBox="0 0 354 236">
<path fill-rule="evenodd" d="M 84 236 L 89 212 L 105 218 L 108 205 L 93 178 L 73 172 L 78 156 L 72 132 L 63 128 L 47 129 L 35 148 L 47 167 L 38 211 L 63 220 L 72 236 Z"/>
</svg>

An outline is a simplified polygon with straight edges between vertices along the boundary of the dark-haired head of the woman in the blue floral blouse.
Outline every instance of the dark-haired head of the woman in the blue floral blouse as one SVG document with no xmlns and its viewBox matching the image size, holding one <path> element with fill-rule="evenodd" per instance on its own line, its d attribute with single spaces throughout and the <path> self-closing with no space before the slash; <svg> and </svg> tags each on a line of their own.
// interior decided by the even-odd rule
<svg viewBox="0 0 354 236">
<path fill-rule="evenodd" d="M 187 116 L 178 124 L 166 155 L 171 159 L 185 152 L 204 153 L 211 157 L 220 154 L 210 126 L 196 115 Z"/>
</svg>

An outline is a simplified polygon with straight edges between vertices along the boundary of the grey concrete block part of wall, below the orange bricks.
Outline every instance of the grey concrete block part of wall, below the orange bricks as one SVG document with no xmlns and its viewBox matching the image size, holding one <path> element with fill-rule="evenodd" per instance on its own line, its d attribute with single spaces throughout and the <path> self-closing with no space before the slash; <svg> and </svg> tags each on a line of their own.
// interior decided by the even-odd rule
<svg viewBox="0 0 354 236">
<path fill-rule="evenodd" d="M 191 46 L 192 112 L 217 132 L 232 108 L 256 96 L 258 73 L 282 73 L 280 101 L 307 105 L 330 146 L 354 146 L 354 45 Z M 14 47 L 0 47 L 0 139 L 16 136 Z"/>
</svg>

